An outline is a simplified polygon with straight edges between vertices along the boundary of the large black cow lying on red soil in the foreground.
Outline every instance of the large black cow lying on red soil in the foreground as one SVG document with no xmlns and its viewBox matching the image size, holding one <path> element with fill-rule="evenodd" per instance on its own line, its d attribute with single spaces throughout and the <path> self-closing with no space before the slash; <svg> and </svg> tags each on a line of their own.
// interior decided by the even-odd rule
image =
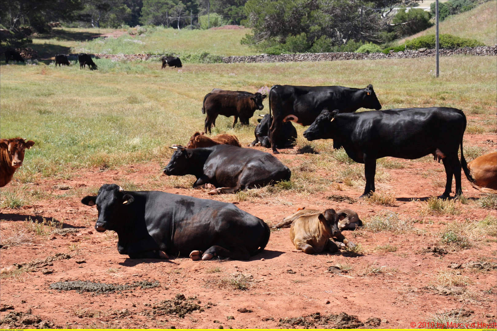
<svg viewBox="0 0 497 331">
<path fill-rule="evenodd" d="M 238 147 L 240 148 L 240 147 Z M 157 191 L 123 191 L 105 184 L 98 195 L 84 197 L 96 204 L 98 232 L 117 233 L 119 254 L 131 259 L 190 256 L 248 260 L 266 246 L 269 227 L 232 203 Z"/>
</svg>

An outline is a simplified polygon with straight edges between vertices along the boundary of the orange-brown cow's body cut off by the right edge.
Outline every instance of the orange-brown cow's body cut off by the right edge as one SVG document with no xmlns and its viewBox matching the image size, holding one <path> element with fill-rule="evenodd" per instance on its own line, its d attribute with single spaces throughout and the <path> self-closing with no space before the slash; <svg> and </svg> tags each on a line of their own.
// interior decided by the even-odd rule
<svg viewBox="0 0 497 331">
<path fill-rule="evenodd" d="M 469 173 L 476 180 L 470 183 L 485 193 L 497 193 L 497 152 L 477 157 L 468 163 Z"/>
</svg>

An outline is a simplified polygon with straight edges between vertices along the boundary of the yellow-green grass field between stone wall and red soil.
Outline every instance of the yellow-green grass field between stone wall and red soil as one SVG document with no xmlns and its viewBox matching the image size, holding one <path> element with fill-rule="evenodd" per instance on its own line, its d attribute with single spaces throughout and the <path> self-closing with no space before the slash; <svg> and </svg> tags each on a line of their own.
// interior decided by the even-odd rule
<svg viewBox="0 0 497 331">
<path fill-rule="evenodd" d="M 434 66 L 430 58 L 361 61 L 360 66 L 356 61 L 190 64 L 181 70 L 161 70 L 157 62 L 96 62 L 99 70 L 2 63 L 1 136 L 22 136 L 36 142 L 26 151 L 25 162 L 14 175 L 14 181 L 70 178 L 79 168 L 112 168 L 142 161 L 155 161 L 163 166 L 172 153 L 168 146 L 185 144 L 193 132 L 202 131 L 205 118 L 200 111 L 202 100 L 214 87 L 256 91 L 273 84 L 364 87 L 372 83 L 384 109 L 479 107 L 479 119 L 495 118 L 495 57 L 441 58 L 439 79 L 429 73 L 428 68 Z M 410 72 L 409 79 L 405 78 L 405 72 Z M 442 92 L 446 95 L 443 101 L 438 98 Z M 265 109 L 250 119 L 249 127 L 237 125 L 232 130 L 232 118 L 220 116 L 215 132 L 236 134 L 242 145 L 247 145 L 253 140 L 257 114 L 267 113 L 267 98 L 264 105 Z M 306 128 L 296 128 L 302 144 Z M 331 156 L 331 140 L 308 144 L 320 152 L 317 160 L 326 156 L 326 162 L 336 162 Z M 326 164 L 321 163 L 319 167 L 324 168 Z M 341 174 L 344 178 L 354 175 L 358 178 L 352 176 L 351 180 L 361 181 L 362 165 L 342 164 L 340 169 L 345 168 L 356 171 L 353 174 L 345 171 Z M 381 171 L 377 173 L 378 180 Z M 307 171 L 297 175 L 296 171 L 292 177 L 297 186 L 304 180 L 313 180 L 312 173 L 311 178 L 306 177 Z M 191 182 L 188 181 L 188 186 Z M 178 186 L 185 183 L 180 181 Z M 17 198 L 14 194 L 6 205 L 21 203 L 15 201 Z M 3 203 L 2 207 L 6 206 Z"/>
</svg>

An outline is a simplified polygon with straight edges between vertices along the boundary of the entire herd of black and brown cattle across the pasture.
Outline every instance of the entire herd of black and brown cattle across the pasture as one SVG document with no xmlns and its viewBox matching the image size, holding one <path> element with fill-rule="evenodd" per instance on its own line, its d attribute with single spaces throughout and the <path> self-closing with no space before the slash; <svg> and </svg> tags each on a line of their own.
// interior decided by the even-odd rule
<svg viewBox="0 0 497 331">
<path fill-rule="evenodd" d="M 17 54 L 18 55 L 18 54 Z M 16 54 L 5 53 L 18 60 Z M 20 57 L 20 55 L 19 55 Z M 91 56 L 79 55 L 80 67 L 96 68 Z M 22 59 L 22 58 L 21 58 Z M 67 56 L 57 55 L 56 65 L 69 65 Z M 165 66 L 181 67 L 178 58 L 163 58 Z M 308 140 L 333 139 L 333 148 L 343 147 L 347 155 L 364 164 L 366 185 L 361 197 L 375 192 L 376 160 L 386 156 L 416 159 L 433 154 L 442 161 L 447 177 L 442 199 L 452 191 L 462 194 L 461 169 L 471 185 L 482 192 L 497 193 L 497 152 L 466 163 L 463 135 L 464 113 L 455 108 L 406 108 L 383 110 L 372 85 L 366 88 L 343 86 L 274 85 L 268 95 L 246 91 L 213 89 L 202 103 L 206 115 L 204 132 L 195 132 L 186 146 L 172 145 L 171 159 L 164 169 L 167 176 L 194 175 L 194 188 L 207 189 L 209 195 L 289 181 L 291 171 L 270 153 L 244 148 L 234 135 L 208 137 L 219 115 L 234 116 L 233 128 L 240 118 L 248 125 L 255 111 L 263 110 L 268 97 L 269 114 L 258 119 L 255 140 L 249 146 L 292 147 L 297 131 L 291 122 L 310 126 Z M 376 111 L 355 113 L 360 108 Z M 22 165 L 25 149 L 34 141 L 22 138 L 0 140 L 0 186 L 5 186 Z M 461 158 L 458 150 L 461 149 Z M 164 192 L 124 191 L 115 184 L 103 185 L 97 196 L 82 203 L 98 210 L 95 229 L 113 230 L 118 235 L 118 252 L 130 258 L 161 258 L 187 255 L 192 260 L 214 257 L 248 260 L 266 246 L 267 224 L 232 203 Z M 340 248 L 353 248 L 342 231 L 362 226 L 350 209 L 335 211 L 299 209 L 274 227 L 290 227 L 295 250 L 307 254 Z M 186 235 L 187 234 L 187 235 Z"/>
</svg>

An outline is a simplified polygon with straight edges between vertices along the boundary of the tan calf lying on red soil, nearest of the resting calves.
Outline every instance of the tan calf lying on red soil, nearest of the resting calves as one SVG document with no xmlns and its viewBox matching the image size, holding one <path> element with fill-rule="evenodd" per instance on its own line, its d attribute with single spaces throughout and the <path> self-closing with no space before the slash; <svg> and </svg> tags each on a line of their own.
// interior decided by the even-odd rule
<svg viewBox="0 0 497 331">
<path fill-rule="evenodd" d="M 337 213 L 334 209 L 300 215 L 290 227 L 290 240 L 295 245 L 296 252 L 314 254 L 328 249 L 335 253 L 339 247 L 354 248 L 355 244 L 347 240 L 338 229 L 338 221 L 345 217 L 346 213 Z M 333 237 L 337 240 L 333 240 Z"/>
</svg>

